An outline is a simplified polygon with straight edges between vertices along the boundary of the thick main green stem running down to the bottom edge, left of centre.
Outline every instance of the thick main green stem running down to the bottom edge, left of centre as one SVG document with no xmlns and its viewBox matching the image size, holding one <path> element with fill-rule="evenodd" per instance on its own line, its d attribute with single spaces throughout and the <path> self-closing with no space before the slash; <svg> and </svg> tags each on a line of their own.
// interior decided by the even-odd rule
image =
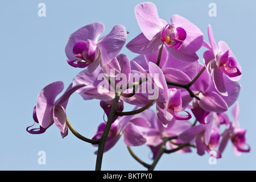
<svg viewBox="0 0 256 182">
<path fill-rule="evenodd" d="M 103 134 L 98 142 L 98 153 L 97 153 L 96 167 L 95 167 L 96 171 L 101 171 L 101 164 L 102 164 L 102 158 L 103 158 L 103 154 L 104 154 L 106 139 L 108 137 L 110 127 L 113 123 L 113 119 L 116 114 L 115 111 L 117 110 L 117 104 L 118 104 L 120 96 L 121 96 L 120 92 L 117 92 L 117 94 L 115 94 L 114 102 L 113 102 L 112 108 L 110 110 L 108 121 L 106 122 L 105 129 L 104 129 Z"/>
</svg>

